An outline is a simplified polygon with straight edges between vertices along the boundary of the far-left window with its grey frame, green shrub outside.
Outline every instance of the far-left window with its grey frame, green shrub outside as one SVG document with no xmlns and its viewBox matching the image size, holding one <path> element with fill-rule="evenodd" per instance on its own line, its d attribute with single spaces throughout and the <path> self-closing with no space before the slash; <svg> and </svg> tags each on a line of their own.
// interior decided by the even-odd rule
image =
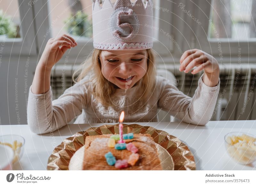
<svg viewBox="0 0 256 186">
<path fill-rule="evenodd" d="M 4 55 L 36 54 L 33 11 L 29 2 L 0 1 L 0 43 Z"/>
</svg>

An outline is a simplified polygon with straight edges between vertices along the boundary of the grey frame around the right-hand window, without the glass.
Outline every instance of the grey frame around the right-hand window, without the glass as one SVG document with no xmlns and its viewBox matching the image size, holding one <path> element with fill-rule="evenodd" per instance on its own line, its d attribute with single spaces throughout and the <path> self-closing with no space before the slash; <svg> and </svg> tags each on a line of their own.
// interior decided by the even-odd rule
<svg viewBox="0 0 256 186">
<path fill-rule="evenodd" d="M 209 20 L 212 11 L 212 0 L 196 1 L 194 6 L 197 10 L 197 16 L 201 18 L 202 27 L 196 27 L 195 36 L 195 46 L 200 50 L 216 57 L 219 62 L 229 61 L 228 58 L 237 56 L 238 53 L 241 56 L 249 58 L 255 58 L 255 47 L 256 39 L 252 38 L 248 41 L 246 40 L 235 40 L 231 38 L 209 38 Z M 201 9 L 201 10 L 200 10 Z M 207 12 L 207 13 L 205 13 Z M 221 50 L 218 50 L 221 47 Z M 241 49 L 241 50 L 240 50 Z M 220 56 L 222 55 L 222 59 Z M 247 61 L 248 62 L 248 61 Z"/>
</svg>

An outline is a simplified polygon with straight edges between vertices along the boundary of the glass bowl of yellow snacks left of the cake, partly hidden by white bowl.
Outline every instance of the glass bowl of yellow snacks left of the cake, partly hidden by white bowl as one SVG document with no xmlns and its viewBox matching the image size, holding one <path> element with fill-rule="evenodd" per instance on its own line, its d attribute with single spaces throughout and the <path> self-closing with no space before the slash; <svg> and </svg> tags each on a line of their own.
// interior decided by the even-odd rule
<svg viewBox="0 0 256 186">
<path fill-rule="evenodd" d="M 14 157 L 12 160 L 13 164 L 17 161 L 20 161 L 23 155 L 24 144 L 25 144 L 25 139 L 22 136 L 19 136 L 19 135 L 0 136 L 0 144 L 9 146 L 12 148 L 14 152 Z M 14 146 L 16 146 L 16 148 Z"/>
</svg>

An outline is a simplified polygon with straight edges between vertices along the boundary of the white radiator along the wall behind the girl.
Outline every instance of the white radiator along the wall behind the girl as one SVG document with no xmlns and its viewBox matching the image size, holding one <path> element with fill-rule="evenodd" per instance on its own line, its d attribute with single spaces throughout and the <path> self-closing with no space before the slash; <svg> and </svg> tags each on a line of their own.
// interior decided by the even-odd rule
<svg viewBox="0 0 256 186">
<path fill-rule="evenodd" d="M 72 86 L 72 73 L 78 65 L 56 65 L 52 69 L 51 87 L 53 99 L 57 99 L 68 87 Z M 158 65 L 175 75 L 178 89 L 192 97 L 202 75 L 185 74 L 174 65 Z M 212 120 L 255 120 L 256 119 L 256 65 L 220 66 L 220 92 L 212 115 Z M 163 115 L 163 114 L 162 114 Z M 162 121 L 166 121 L 161 119 Z M 169 119 L 168 119 L 169 120 Z"/>
</svg>

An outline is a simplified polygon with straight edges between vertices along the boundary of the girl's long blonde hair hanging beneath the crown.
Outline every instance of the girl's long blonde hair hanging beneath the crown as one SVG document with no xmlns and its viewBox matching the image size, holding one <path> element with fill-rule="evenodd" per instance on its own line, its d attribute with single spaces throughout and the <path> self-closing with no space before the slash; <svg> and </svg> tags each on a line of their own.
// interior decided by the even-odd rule
<svg viewBox="0 0 256 186">
<path fill-rule="evenodd" d="M 85 76 L 90 75 L 90 79 L 86 82 L 92 83 L 91 92 L 95 99 L 104 106 L 110 106 L 110 96 L 115 93 L 116 85 L 108 81 L 101 73 L 100 54 L 102 50 L 93 49 L 92 55 L 84 61 L 73 73 L 72 80 L 76 83 L 81 81 Z M 152 49 L 147 49 L 148 61 L 147 61 L 147 73 L 138 82 L 143 94 L 140 95 L 140 99 L 143 101 L 148 99 L 151 95 L 151 91 L 156 82 L 156 64 L 155 64 L 155 52 Z M 108 96 L 106 96 L 108 95 Z"/>
</svg>

